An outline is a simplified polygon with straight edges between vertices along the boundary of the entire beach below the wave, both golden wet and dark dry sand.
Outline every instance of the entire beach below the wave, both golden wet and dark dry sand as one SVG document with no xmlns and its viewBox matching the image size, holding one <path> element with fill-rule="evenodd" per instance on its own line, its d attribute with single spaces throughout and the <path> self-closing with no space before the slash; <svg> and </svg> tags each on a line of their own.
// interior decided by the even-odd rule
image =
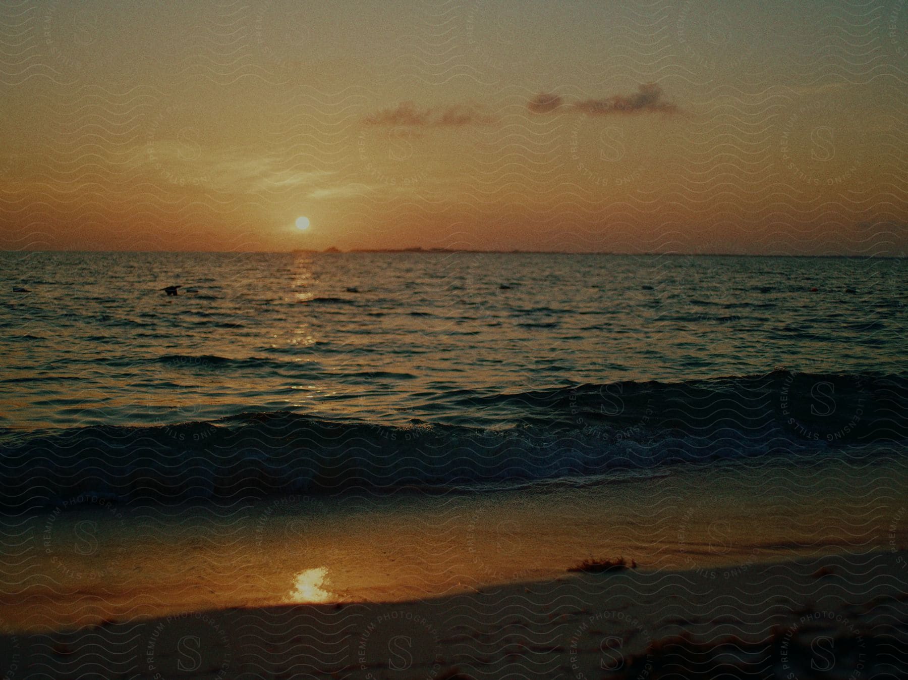
<svg viewBox="0 0 908 680">
<path fill-rule="evenodd" d="M 6 562 L 0 677 L 898 677 L 904 471 L 859 463 L 40 515 L 21 535 L 60 538 Z M 568 571 L 587 555 L 639 564 Z"/>
</svg>

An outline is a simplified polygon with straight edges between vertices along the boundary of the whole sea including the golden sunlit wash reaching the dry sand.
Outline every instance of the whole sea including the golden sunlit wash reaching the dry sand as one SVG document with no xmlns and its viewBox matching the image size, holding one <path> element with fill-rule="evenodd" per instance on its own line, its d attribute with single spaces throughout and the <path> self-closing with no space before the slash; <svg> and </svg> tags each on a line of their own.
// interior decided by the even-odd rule
<svg viewBox="0 0 908 680">
<path fill-rule="evenodd" d="M 5 253 L 0 633 L 431 601 L 617 555 L 726 584 L 864 564 L 908 535 L 906 274 Z"/>
</svg>

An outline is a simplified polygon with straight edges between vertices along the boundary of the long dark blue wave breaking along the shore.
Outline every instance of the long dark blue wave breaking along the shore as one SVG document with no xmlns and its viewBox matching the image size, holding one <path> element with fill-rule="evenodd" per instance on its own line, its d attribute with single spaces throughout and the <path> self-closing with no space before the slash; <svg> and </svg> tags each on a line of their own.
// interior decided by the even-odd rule
<svg viewBox="0 0 908 680">
<path fill-rule="evenodd" d="M 250 495 L 384 491 L 588 477 L 616 469 L 836 447 L 899 455 L 908 439 L 908 381 L 899 376 L 760 376 L 477 395 L 444 410 L 479 423 L 507 411 L 516 425 L 410 425 L 291 412 L 213 422 L 97 425 L 0 433 L 7 506 L 77 495 L 124 502 L 233 500 Z"/>
</svg>

